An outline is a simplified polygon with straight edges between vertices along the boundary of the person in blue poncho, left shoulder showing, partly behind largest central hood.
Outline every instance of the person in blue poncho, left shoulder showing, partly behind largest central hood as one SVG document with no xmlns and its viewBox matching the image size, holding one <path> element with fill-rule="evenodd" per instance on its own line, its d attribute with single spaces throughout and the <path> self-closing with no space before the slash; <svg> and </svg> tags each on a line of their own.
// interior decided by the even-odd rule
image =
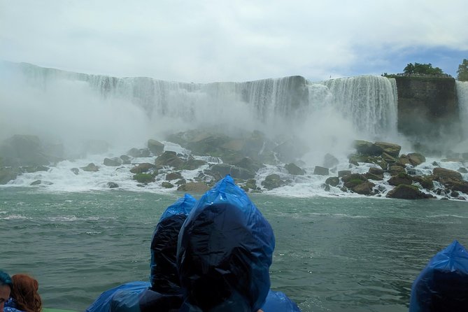
<svg viewBox="0 0 468 312">
<path fill-rule="evenodd" d="M 150 246 L 150 283 L 135 281 L 106 290 L 86 312 L 178 311 L 182 292 L 176 268 L 177 237 L 195 202 L 185 194 L 159 218 Z"/>
</svg>

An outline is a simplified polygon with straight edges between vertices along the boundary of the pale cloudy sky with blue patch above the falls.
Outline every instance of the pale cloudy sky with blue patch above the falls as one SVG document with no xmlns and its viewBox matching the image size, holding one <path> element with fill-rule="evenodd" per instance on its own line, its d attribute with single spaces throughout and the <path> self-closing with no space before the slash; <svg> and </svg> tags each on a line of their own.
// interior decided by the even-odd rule
<svg viewBox="0 0 468 312">
<path fill-rule="evenodd" d="M 468 59 L 466 0 L 0 0 L 0 60 L 209 83 Z"/>
</svg>

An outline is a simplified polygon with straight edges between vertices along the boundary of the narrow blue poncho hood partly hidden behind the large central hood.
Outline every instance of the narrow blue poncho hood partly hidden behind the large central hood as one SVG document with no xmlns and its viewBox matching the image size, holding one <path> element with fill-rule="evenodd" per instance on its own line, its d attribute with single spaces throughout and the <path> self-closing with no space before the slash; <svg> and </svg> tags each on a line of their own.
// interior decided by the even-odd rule
<svg viewBox="0 0 468 312">
<path fill-rule="evenodd" d="M 151 239 L 151 290 L 163 294 L 180 292 L 176 266 L 177 238 L 197 199 L 190 194 L 178 199 L 162 213 Z"/>
</svg>

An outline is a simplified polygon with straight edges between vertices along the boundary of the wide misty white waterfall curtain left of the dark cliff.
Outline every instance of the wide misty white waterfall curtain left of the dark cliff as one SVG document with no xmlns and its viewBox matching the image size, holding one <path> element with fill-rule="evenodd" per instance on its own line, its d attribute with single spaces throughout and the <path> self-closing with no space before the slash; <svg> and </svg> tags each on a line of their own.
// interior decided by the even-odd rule
<svg viewBox="0 0 468 312">
<path fill-rule="evenodd" d="M 329 127 L 337 122 L 336 116 L 325 120 L 324 112 L 330 109 L 341 115 L 339 125 L 334 126 L 334 137 L 343 136 L 345 132 L 350 135 L 350 130 L 343 127 L 344 123 L 352 125 L 360 139 L 375 139 L 396 133 L 396 83 L 394 79 L 379 76 L 341 78 L 319 83 L 301 76 L 290 76 L 240 83 L 201 84 L 146 77 L 115 78 L 24 63 L 5 62 L 0 65 L 8 69 L 8 77 L 3 76 L 6 81 L 12 80 L 12 77 L 21 78 L 42 90 L 41 96 L 34 91 L 34 99 L 28 99 L 31 103 L 42 103 L 43 108 L 34 107 L 35 111 L 40 111 L 37 117 L 45 111 L 51 114 L 62 112 L 53 120 L 44 122 L 42 128 L 63 120 L 57 127 L 65 126 L 66 131 L 77 136 L 78 132 L 83 132 L 79 128 L 83 125 L 87 125 L 94 134 L 112 129 L 119 136 L 124 136 L 139 130 L 140 136 L 145 139 L 155 133 L 215 125 L 222 125 L 223 129 L 259 129 L 272 135 L 302 132 L 307 136 L 312 132 L 320 134 L 323 127 L 328 127 L 327 131 L 330 131 Z M 15 94 L 11 97 L 15 99 L 19 96 Z M 41 97 L 44 97 L 42 102 Z M 54 104 L 54 101 L 57 103 Z M 103 108 L 99 108 L 99 105 Z M 10 119 L 20 119 L 19 108 L 13 108 L 13 104 L 11 107 L 12 111 L 16 110 L 16 115 Z M 69 112 L 66 107 L 73 109 Z M 74 129 L 73 122 L 76 122 Z M 99 127 L 92 127 L 93 122 Z M 31 129 L 31 125 L 28 127 Z M 55 129 L 55 132 L 64 130 Z"/>
</svg>

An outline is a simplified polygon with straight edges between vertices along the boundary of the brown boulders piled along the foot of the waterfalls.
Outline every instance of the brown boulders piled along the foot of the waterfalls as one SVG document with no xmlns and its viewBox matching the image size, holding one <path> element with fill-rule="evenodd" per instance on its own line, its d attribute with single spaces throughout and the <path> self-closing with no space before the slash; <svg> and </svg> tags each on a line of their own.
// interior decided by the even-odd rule
<svg viewBox="0 0 468 312">
<path fill-rule="evenodd" d="M 146 148 L 131 148 L 119 157 L 104 157 L 99 164 L 72 168 L 75 175 L 99 171 L 102 166 L 124 168 L 132 173 L 134 183 L 147 187 L 159 183 L 168 190 L 201 193 L 220 178 L 230 174 L 246 192 L 264 192 L 291 185 L 300 176 L 322 176 L 325 191 L 399 199 L 468 199 L 468 153 L 451 153 L 441 162 L 459 162 L 457 170 L 433 162 L 432 170 L 421 170 L 426 163 L 421 153 L 400 154 L 395 143 L 354 141 L 354 153 L 348 156 L 348 169 L 338 170 L 338 159 L 325 155 L 313 173 L 306 171 L 300 157 L 306 153 L 297 139 L 274 142 L 262 132 L 243 132 L 237 136 L 216 134 L 213 129 L 199 129 L 172 134 L 167 142 L 178 144 L 183 153 L 164 149 L 164 143 L 149 139 Z M 105 152 L 105 142 L 94 142 L 94 153 Z M 89 153 L 90 149 L 88 149 Z M 143 160 L 142 160 L 143 159 Z M 145 159 L 150 159 L 145 161 Z M 154 160 L 153 160 L 154 159 Z M 64 160 L 63 147 L 46 146 L 37 136 L 15 135 L 0 145 L 0 184 L 5 185 L 24 173 L 48 171 Z M 365 173 L 355 170 L 369 164 Z M 276 166 L 283 174 L 271 173 L 259 178 L 265 166 Z M 189 176 L 185 176 L 190 172 Z M 465 175 L 465 179 L 463 177 Z M 35 180 L 31 185 L 50 181 Z M 382 183 L 388 187 L 382 187 Z M 120 187 L 110 180 L 109 188 Z M 390 189 L 390 190 L 389 190 Z"/>
</svg>

